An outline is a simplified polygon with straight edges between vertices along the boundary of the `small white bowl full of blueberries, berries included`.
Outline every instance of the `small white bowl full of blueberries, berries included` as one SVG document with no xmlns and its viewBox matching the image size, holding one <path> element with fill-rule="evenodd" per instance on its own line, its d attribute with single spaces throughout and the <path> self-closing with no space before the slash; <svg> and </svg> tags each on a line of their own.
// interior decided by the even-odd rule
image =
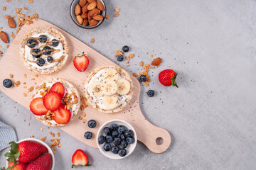
<svg viewBox="0 0 256 170">
<path fill-rule="evenodd" d="M 129 123 L 114 119 L 104 123 L 97 132 L 97 147 L 111 159 L 123 159 L 134 151 L 137 134 Z"/>
</svg>

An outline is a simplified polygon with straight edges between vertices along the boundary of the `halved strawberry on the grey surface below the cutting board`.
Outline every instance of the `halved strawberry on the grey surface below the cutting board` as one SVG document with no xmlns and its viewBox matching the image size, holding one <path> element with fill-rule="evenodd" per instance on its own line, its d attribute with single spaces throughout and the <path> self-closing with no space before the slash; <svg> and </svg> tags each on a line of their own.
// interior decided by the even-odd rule
<svg viewBox="0 0 256 170">
<path fill-rule="evenodd" d="M 72 156 L 72 163 L 73 165 L 71 166 L 72 168 L 75 166 L 90 166 L 88 164 L 89 159 L 85 152 L 83 152 L 81 149 L 78 149 L 75 151 L 75 153 Z"/>
</svg>

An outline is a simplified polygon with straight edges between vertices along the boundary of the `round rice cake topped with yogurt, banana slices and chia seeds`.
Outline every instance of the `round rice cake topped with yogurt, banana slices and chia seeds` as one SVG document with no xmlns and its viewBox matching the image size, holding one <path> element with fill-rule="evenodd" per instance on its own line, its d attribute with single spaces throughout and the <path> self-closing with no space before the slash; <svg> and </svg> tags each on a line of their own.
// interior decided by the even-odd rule
<svg viewBox="0 0 256 170">
<path fill-rule="evenodd" d="M 105 65 L 93 70 L 85 81 L 85 96 L 102 113 L 122 111 L 132 99 L 134 85 L 121 67 Z"/>
</svg>

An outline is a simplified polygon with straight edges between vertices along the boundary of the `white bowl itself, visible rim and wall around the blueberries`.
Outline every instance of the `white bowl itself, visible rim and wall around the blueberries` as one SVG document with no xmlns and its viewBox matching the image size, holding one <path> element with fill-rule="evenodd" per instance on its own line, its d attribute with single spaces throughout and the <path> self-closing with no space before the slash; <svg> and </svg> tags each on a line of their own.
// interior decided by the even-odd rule
<svg viewBox="0 0 256 170">
<path fill-rule="evenodd" d="M 133 135 L 133 137 L 134 137 L 134 143 L 129 144 L 128 147 L 125 148 L 125 149 L 127 150 L 127 154 L 126 154 L 124 157 L 120 157 L 119 154 L 113 154 L 113 153 L 111 152 L 111 150 L 108 151 L 108 152 L 105 151 L 105 149 L 103 149 L 104 144 L 100 145 L 99 142 L 98 142 L 98 139 L 99 139 L 100 135 L 105 136 L 105 133 L 103 132 L 103 129 L 104 129 L 105 127 L 110 127 L 110 125 L 111 125 L 112 123 L 115 123 L 115 124 L 117 124 L 118 126 L 119 126 L 119 125 L 124 125 L 128 130 L 132 130 L 132 131 L 134 132 L 134 135 Z M 111 159 L 123 159 L 123 158 L 125 158 L 125 157 L 128 157 L 128 156 L 129 156 L 130 154 L 132 154 L 132 152 L 134 151 L 134 149 L 135 149 L 135 147 L 136 147 L 136 145 L 137 145 L 137 134 L 136 134 L 136 131 L 134 130 L 134 128 L 132 127 L 132 125 L 130 125 L 130 124 L 127 123 L 126 121 L 124 121 L 124 120 L 119 120 L 119 119 L 114 119 L 114 120 L 110 120 L 110 121 L 104 123 L 104 124 L 100 127 L 100 129 L 99 129 L 98 132 L 97 132 L 96 141 L 97 141 L 97 147 L 99 147 L 100 152 L 102 152 L 102 154 L 104 154 L 106 157 L 109 157 L 109 158 L 111 158 Z"/>
</svg>

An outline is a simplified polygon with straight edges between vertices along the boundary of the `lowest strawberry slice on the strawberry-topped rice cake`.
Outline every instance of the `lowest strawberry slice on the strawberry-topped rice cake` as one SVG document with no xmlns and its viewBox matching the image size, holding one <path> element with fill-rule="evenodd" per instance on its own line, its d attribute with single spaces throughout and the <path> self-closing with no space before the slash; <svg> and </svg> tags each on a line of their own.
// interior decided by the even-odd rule
<svg viewBox="0 0 256 170">
<path fill-rule="evenodd" d="M 55 120 L 56 123 L 66 124 L 69 122 L 71 118 L 70 110 L 65 109 L 65 105 L 63 103 L 61 103 L 60 107 L 53 113 L 53 120 Z"/>
</svg>

